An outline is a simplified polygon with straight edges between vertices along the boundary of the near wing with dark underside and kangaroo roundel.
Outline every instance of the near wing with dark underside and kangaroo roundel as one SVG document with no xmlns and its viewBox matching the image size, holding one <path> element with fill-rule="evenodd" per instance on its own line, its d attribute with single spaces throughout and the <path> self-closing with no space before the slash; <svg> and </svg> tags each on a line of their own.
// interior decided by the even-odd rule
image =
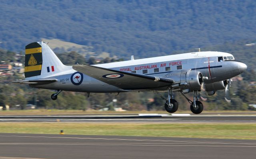
<svg viewBox="0 0 256 159">
<path fill-rule="evenodd" d="M 116 71 L 91 65 L 74 65 L 73 69 L 124 90 L 151 89 L 170 86 L 174 83 L 172 79 Z"/>
</svg>

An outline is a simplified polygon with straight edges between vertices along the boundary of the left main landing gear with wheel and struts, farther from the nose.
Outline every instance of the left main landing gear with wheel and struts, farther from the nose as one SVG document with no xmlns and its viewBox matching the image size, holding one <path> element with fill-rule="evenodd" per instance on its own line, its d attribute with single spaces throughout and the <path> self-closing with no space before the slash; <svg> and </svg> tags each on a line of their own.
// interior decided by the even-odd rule
<svg viewBox="0 0 256 159">
<path fill-rule="evenodd" d="M 178 102 L 173 99 L 172 96 L 172 90 L 168 89 L 168 100 L 166 100 L 160 93 L 158 93 L 157 91 L 155 91 L 164 101 L 164 108 L 167 112 L 169 113 L 174 113 L 178 110 Z"/>
</svg>

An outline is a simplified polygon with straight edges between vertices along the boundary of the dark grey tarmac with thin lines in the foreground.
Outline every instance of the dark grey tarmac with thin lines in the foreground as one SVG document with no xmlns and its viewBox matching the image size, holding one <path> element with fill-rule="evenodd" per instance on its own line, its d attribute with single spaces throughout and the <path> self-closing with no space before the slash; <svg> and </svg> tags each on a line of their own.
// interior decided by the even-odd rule
<svg viewBox="0 0 256 159">
<path fill-rule="evenodd" d="M 0 159 L 255 159 L 256 140 L 0 133 Z"/>
</svg>

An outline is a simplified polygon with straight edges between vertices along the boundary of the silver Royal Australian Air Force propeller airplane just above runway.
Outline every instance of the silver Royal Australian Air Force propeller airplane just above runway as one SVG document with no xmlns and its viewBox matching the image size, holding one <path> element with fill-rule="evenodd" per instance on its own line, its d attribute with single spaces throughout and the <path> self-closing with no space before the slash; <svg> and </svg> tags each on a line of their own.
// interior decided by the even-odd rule
<svg viewBox="0 0 256 159">
<path fill-rule="evenodd" d="M 134 59 L 98 65 L 64 65 L 50 47 L 34 42 L 25 47 L 25 80 L 14 83 L 29 84 L 33 88 L 56 90 L 56 100 L 62 91 L 94 93 L 155 92 L 164 100 L 169 113 L 178 110 L 173 92 L 180 92 L 194 114 L 203 111 L 198 92 L 209 96 L 225 89 L 225 100 L 230 102 L 231 78 L 240 75 L 247 65 L 236 61 L 230 53 L 201 51 Z M 159 92 L 167 92 L 164 98 Z M 193 92 L 193 100 L 185 94 Z M 203 97 L 202 99 L 205 99 Z"/>
</svg>

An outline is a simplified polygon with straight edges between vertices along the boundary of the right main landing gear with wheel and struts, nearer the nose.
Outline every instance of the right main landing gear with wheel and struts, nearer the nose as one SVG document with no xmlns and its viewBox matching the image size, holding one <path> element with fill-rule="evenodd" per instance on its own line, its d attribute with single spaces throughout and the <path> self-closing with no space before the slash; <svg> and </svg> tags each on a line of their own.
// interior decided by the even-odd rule
<svg viewBox="0 0 256 159">
<path fill-rule="evenodd" d="M 188 99 L 184 93 L 181 92 L 181 94 L 186 98 L 186 100 L 188 100 L 188 102 L 190 103 L 190 110 L 192 113 L 194 114 L 200 114 L 203 110 L 204 110 L 204 105 L 202 104 L 202 102 L 200 102 L 198 100 L 198 95 L 197 95 L 198 91 L 194 91 L 194 96 L 193 96 L 193 102 Z"/>
</svg>

